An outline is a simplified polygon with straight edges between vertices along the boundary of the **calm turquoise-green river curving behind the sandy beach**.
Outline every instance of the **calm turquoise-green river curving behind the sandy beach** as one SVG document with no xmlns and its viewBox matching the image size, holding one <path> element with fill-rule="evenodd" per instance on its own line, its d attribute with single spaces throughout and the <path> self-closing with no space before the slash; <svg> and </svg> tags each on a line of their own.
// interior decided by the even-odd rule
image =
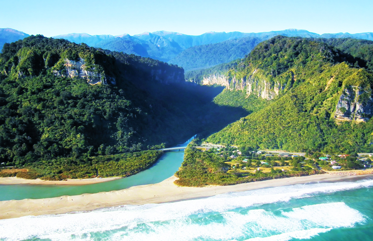
<svg viewBox="0 0 373 241">
<path fill-rule="evenodd" d="M 177 147 L 184 147 L 192 140 Z M 184 160 L 184 150 L 166 152 L 149 169 L 132 176 L 88 185 L 33 185 L 12 184 L 0 185 L 0 201 L 40 199 L 60 197 L 64 195 L 80 195 L 84 193 L 98 193 L 121 190 L 132 186 L 155 184 L 173 176 L 179 170 Z"/>
</svg>

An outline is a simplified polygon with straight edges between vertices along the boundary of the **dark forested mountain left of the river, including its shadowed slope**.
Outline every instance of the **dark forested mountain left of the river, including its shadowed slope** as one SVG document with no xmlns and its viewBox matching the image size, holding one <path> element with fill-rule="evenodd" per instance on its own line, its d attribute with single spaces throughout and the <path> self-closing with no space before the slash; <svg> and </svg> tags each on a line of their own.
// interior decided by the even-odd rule
<svg viewBox="0 0 373 241">
<path fill-rule="evenodd" d="M 0 73 L 0 162 L 33 173 L 22 177 L 133 174 L 160 155 L 143 150 L 247 115 L 182 68 L 41 35 L 5 44 Z"/>
</svg>

